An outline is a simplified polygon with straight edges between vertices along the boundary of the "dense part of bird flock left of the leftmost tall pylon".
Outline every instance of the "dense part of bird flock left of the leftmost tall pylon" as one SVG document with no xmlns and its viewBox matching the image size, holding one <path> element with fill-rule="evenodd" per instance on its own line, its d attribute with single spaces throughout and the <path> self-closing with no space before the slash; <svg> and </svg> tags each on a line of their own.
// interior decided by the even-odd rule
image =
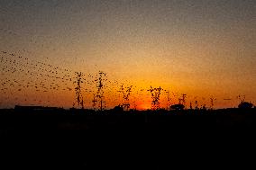
<svg viewBox="0 0 256 170">
<path fill-rule="evenodd" d="M 24 91 L 24 94 L 41 92 L 43 94 L 73 89 L 74 76 L 69 69 L 54 67 L 7 51 L 1 51 L 0 63 L 0 90 L 10 100 L 17 98 L 17 95 L 15 96 L 17 92 Z M 37 96 L 34 100 L 38 98 L 40 97 Z"/>
</svg>

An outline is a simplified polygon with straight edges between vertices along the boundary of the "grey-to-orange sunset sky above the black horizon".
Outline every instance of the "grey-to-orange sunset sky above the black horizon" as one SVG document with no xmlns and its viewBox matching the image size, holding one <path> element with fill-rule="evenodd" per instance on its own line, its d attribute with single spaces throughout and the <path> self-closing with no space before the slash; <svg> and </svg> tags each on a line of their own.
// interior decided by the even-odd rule
<svg viewBox="0 0 256 170">
<path fill-rule="evenodd" d="M 17 62 L 15 68 L 9 64 L 9 71 L 1 71 L 2 108 L 30 103 L 72 105 L 73 79 L 68 85 L 58 82 L 62 89 L 72 88 L 65 93 L 43 94 L 41 89 L 25 87 L 31 80 L 33 86 L 52 87 L 53 77 L 38 76 L 40 64 L 35 63 L 40 62 L 59 67 L 60 75 L 64 74 L 60 68 L 69 69 L 70 74 L 81 71 L 87 77 L 103 70 L 111 81 L 110 89 L 105 89 L 108 107 L 121 103 L 117 91 L 122 83 L 133 85 L 131 101 L 140 109 L 151 107 L 151 94 L 146 91 L 151 85 L 169 90 L 172 103 L 187 94 L 187 103 L 198 100 L 209 105 L 214 97 L 215 108 L 234 107 L 241 94 L 256 104 L 254 0 L 0 0 L 0 22 L 0 68 L 7 66 L 8 59 Z M 33 67 L 27 67 L 27 61 Z M 22 67 L 33 74 L 25 75 L 24 69 L 10 71 Z M 41 67 L 44 72 L 50 69 Z M 14 81 L 22 87 L 17 88 Z M 84 95 L 91 105 L 96 87 L 88 88 L 91 92 Z M 31 101 L 24 102 L 24 96 Z M 162 91 L 161 107 L 166 105 L 165 98 Z"/>
</svg>

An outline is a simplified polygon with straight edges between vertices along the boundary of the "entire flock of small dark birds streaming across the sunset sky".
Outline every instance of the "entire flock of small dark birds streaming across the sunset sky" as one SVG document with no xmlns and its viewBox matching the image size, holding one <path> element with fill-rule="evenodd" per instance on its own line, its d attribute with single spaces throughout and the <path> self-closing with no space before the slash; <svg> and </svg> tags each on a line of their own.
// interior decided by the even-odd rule
<svg viewBox="0 0 256 170">
<path fill-rule="evenodd" d="M 136 108 L 137 102 L 145 103 L 148 99 L 152 100 L 152 108 L 154 104 L 159 108 L 160 100 L 167 107 L 171 103 L 186 103 L 186 94 L 170 93 L 168 89 L 162 88 L 144 89 L 130 82 L 110 81 L 105 72 L 101 71 L 96 75 L 81 75 L 82 84 L 78 87 L 78 72 L 4 50 L 0 54 L 0 70 L 0 106 L 6 103 L 71 106 L 78 99 L 78 90 L 87 108 L 93 105 L 99 107 L 96 103 L 100 100 L 110 108 L 120 104 Z M 164 93 L 160 95 L 160 91 Z M 215 100 L 211 98 L 211 108 Z M 198 100 L 195 105 L 199 105 Z"/>
</svg>

